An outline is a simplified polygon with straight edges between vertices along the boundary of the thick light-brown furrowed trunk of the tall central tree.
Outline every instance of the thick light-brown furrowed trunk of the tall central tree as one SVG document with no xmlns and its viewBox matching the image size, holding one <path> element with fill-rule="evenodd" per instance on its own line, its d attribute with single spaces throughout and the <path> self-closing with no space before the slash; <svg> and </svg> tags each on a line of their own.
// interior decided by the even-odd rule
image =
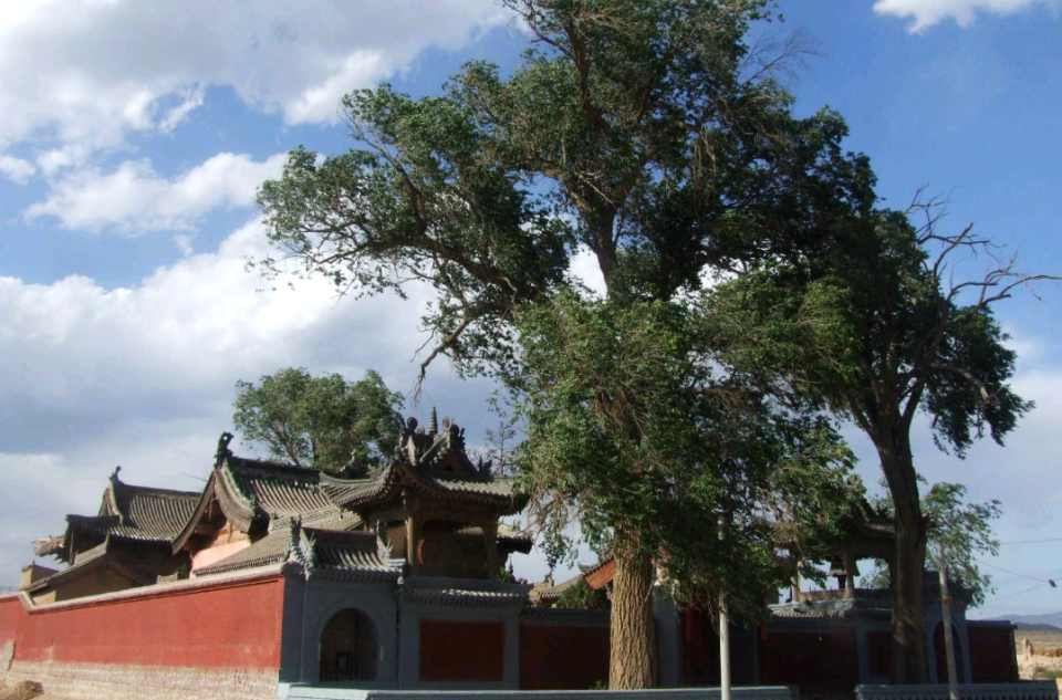
<svg viewBox="0 0 1062 700">
<path fill-rule="evenodd" d="M 636 547 L 615 548 L 608 688 L 637 690 L 656 685 L 656 621 L 653 560 Z"/>
</svg>

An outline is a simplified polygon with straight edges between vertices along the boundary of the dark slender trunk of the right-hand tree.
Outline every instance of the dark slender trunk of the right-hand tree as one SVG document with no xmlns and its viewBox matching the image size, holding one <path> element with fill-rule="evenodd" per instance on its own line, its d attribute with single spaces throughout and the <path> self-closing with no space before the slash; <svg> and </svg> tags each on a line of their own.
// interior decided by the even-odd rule
<svg viewBox="0 0 1062 700">
<path fill-rule="evenodd" d="M 893 607 L 892 681 L 928 682 L 926 625 L 923 608 L 923 572 L 926 566 L 926 521 L 922 514 L 918 478 L 907 430 L 899 426 L 882 431 L 877 445 L 882 470 L 893 500 L 896 545 L 889 561 Z M 884 442 L 884 443 L 883 443 Z"/>
</svg>

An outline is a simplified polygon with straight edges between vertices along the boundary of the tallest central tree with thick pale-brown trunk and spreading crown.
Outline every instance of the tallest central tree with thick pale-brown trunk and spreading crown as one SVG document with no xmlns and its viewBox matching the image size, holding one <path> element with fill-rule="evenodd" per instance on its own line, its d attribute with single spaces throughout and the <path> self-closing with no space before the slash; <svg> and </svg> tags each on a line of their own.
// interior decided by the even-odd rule
<svg viewBox="0 0 1062 700">
<path fill-rule="evenodd" d="M 826 468 L 826 493 L 840 453 L 827 424 L 763 393 L 762 374 L 710 354 L 689 299 L 715 271 L 856 236 L 842 224 L 871 212 L 873 174 L 843 150 L 840 115 L 792 115 L 775 71 L 793 46 L 749 39 L 771 19 L 766 0 L 503 3 L 530 32 L 522 64 L 502 76 L 470 63 L 436 96 L 388 85 L 348 95 L 354 148 L 323 159 L 296 149 L 263 185 L 277 255 L 259 264 L 269 274 L 294 262 L 341 293 L 402 293 L 410 281 L 438 292 L 421 372 L 445 353 L 459 373 L 523 395 L 537 448 L 525 482 L 544 499 L 541 522 L 563 522 L 550 504 L 566 501 L 612 539 L 611 685 L 646 687 L 654 557 L 693 571 L 726 547 L 749 554 L 715 556 L 717 567 L 766 571 L 752 512 L 771 474 L 800 471 L 768 462 Z M 584 251 L 605 281 L 600 303 L 572 291 L 570 263 Z M 721 544 L 702 536 L 720 508 L 732 526 Z M 684 536 L 662 552 L 663 533 Z M 730 578 L 749 579 L 717 568 L 685 581 Z"/>
</svg>

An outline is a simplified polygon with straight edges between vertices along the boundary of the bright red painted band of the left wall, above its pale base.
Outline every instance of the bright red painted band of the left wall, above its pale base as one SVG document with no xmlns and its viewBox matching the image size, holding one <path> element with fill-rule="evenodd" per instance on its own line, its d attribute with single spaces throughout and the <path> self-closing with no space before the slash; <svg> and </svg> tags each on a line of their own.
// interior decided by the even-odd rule
<svg viewBox="0 0 1062 700">
<path fill-rule="evenodd" d="M 17 661 L 280 668 L 283 594 L 277 576 L 29 612 L 10 598 L 0 640 Z"/>
</svg>

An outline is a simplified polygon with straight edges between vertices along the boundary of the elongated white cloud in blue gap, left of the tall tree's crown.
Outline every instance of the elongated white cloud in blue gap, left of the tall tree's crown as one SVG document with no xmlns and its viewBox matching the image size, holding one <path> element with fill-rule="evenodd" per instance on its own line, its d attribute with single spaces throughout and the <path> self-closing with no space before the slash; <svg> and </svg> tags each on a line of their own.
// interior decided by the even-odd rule
<svg viewBox="0 0 1062 700">
<path fill-rule="evenodd" d="M 69 229 L 92 231 L 187 230 L 211 209 L 253 203 L 258 187 L 278 177 L 285 159 L 285 154 L 256 161 L 222 153 L 169 180 L 147 160 L 126 160 L 112 173 L 74 170 L 52 182 L 48 199 L 23 216 L 53 217 Z"/>
</svg>

